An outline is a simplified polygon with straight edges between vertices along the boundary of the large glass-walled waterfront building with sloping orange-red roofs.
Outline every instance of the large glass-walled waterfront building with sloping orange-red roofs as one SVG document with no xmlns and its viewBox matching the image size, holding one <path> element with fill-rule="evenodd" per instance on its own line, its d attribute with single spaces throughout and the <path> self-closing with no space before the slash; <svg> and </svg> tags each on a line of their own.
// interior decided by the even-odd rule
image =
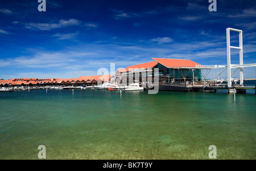
<svg viewBox="0 0 256 171">
<path fill-rule="evenodd" d="M 148 76 L 152 76 L 151 79 L 154 80 L 155 69 L 158 69 L 159 71 L 158 76 L 160 84 L 186 82 L 192 81 L 193 79 L 201 80 L 201 70 L 197 68 L 197 66 L 200 66 L 199 63 L 189 59 L 152 59 L 154 60 L 152 62 L 128 66 L 126 69 L 118 69 L 116 71 L 118 81 L 126 79 L 127 84 L 130 84 L 131 81 L 142 83 L 148 81 Z M 146 79 L 143 79 L 143 74 L 144 77 L 146 76 Z M 133 80 L 131 80 L 131 78 Z"/>
</svg>

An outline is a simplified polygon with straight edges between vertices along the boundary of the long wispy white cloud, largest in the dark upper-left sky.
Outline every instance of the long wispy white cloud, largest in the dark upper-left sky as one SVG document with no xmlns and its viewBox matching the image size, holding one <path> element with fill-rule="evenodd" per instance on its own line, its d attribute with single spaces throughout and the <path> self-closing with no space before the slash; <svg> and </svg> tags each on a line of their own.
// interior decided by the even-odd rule
<svg viewBox="0 0 256 171">
<path fill-rule="evenodd" d="M 76 19 L 60 20 L 59 23 L 25 23 L 25 28 L 35 30 L 39 29 L 42 31 L 49 31 L 55 28 L 69 27 L 72 25 L 79 25 L 81 22 Z"/>
</svg>

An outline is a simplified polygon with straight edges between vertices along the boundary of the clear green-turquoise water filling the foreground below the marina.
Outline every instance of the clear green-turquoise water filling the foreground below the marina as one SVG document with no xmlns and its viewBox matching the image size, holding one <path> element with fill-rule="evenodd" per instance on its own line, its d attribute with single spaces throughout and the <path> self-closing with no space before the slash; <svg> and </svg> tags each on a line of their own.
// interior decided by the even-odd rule
<svg viewBox="0 0 256 171">
<path fill-rule="evenodd" d="M 256 159 L 256 96 L 45 89 L 0 93 L 0 159 Z"/>
</svg>

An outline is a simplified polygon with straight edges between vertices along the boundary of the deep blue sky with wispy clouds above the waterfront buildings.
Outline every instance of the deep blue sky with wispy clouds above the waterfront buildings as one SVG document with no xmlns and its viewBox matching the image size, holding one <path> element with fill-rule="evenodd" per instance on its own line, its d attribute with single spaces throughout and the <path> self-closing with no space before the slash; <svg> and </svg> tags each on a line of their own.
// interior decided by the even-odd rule
<svg viewBox="0 0 256 171">
<path fill-rule="evenodd" d="M 208 0 L 47 0 L 46 12 L 39 4 L 0 1 L 0 78 L 78 78 L 152 57 L 226 65 L 228 27 L 243 31 L 243 63 L 256 63 L 255 0 L 217 0 L 216 12 Z M 238 46 L 238 33 L 231 39 Z M 245 78 L 256 78 L 255 68 Z"/>
</svg>

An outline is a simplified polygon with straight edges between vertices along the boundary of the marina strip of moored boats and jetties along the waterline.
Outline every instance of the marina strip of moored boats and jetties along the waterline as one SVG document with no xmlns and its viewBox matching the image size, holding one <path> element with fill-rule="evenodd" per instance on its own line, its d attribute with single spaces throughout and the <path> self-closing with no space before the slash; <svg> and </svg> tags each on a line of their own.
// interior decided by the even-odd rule
<svg viewBox="0 0 256 171">
<path fill-rule="evenodd" d="M 8 82 L 8 81 L 5 81 Z M 79 82 L 79 80 L 77 80 Z M 201 92 L 207 92 L 207 91 L 213 91 L 217 92 L 217 90 L 221 89 L 229 89 L 230 91 L 227 91 L 227 93 L 233 93 L 233 89 L 237 89 L 237 93 L 245 93 L 246 89 L 254 89 L 256 87 L 256 79 L 250 79 L 250 80 L 243 80 L 245 82 L 246 86 L 240 86 L 239 84 L 239 79 L 238 82 L 234 82 L 233 86 L 231 88 L 228 88 L 226 84 L 220 84 L 218 80 L 214 83 L 210 83 L 210 80 L 204 81 L 204 82 L 176 82 L 176 83 L 170 83 L 170 82 L 160 82 L 159 83 L 159 90 L 160 91 L 201 91 Z M 104 84 L 97 86 L 96 84 L 92 86 L 86 86 L 85 82 L 81 83 L 74 83 L 69 82 L 67 80 L 65 84 L 64 82 L 61 83 L 54 83 L 54 82 L 48 82 L 48 83 L 43 83 L 43 85 L 40 84 L 35 84 L 35 86 L 26 86 L 26 84 L 21 83 L 19 86 L 10 86 L 10 84 L 3 84 L 3 86 L 7 85 L 6 87 L 1 87 L 0 92 L 2 91 L 25 91 L 25 90 L 30 90 L 30 89 L 109 89 L 109 90 L 115 90 L 119 91 L 119 89 L 122 89 L 122 91 L 135 91 L 135 90 L 147 90 L 151 89 L 148 87 L 154 87 L 156 86 L 154 83 L 153 84 L 146 84 L 146 86 L 143 87 L 142 84 L 139 83 L 132 83 L 128 84 L 129 86 L 123 85 L 123 84 L 117 84 L 115 82 L 105 82 Z M 207 87 L 205 87 L 205 84 L 210 83 Z M 90 83 L 91 84 L 91 83 Z M 31 85 L 28 83 L 27 85 Z M 37 86 L 38 85 L 38 86 Z M 63 86 L 64 85 L 64 86 Z M 136 88 L 137 87 L 137 88 Z M 256 94 L 256 90 L 255 90 Z"/>
</svg>

